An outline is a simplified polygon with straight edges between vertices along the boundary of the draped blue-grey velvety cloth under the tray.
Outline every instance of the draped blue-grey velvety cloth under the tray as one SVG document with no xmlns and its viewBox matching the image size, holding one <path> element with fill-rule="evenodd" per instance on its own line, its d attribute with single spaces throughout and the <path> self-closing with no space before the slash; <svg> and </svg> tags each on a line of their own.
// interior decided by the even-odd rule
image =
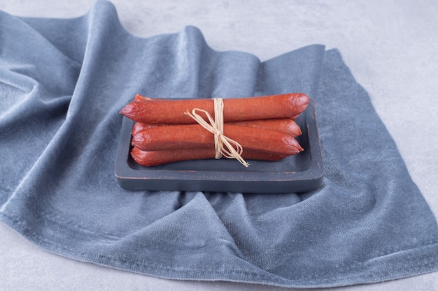
<svg viewBox="0 0 438 291">
<path fill-rule="evenodd" d="M 309 193 L 126 191 L 119 110 L 156 98 L 304 92 L 325 177 Z M 150 276 L 324 287 L 438 269 L 438 227 L 337 50 L 269 61 L 201 31 L 136 38 L 97 1 L 69 20 L 0 13 L 0 218 L 48 251 Z"/>
</svg>

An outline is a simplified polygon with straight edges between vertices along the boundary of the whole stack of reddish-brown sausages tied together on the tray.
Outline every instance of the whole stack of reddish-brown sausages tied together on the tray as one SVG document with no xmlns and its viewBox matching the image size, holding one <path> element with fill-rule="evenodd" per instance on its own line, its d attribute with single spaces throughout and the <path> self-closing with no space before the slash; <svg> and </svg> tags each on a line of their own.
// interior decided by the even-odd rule
<svg viewBox="0 0 438 291">
<path fill-rule="evenodd" d="M 295 119 L 306 110 L 306 94 L 223 100 L 223 134 L 243 148 L 242 158 L 278 161 L 303 151 Z M 214 116 L 211 99 L 152 99 L 136 95 L 120 111 L 132 119 L 131 156 L 146 167 L 215 157 L 212 133 L 189 117 L 199 108 Z"/>
</svg>

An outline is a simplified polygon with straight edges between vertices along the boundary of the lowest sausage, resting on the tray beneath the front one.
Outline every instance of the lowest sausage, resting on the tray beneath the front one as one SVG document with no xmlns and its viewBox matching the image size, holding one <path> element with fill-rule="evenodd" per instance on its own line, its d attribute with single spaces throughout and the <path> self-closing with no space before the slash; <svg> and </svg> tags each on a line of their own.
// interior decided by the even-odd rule
<svg viewBox="0 0 438 291">
<path fill-rule="evenodd" d="M 131 156 L 144 167 L 153 167 L 167 163 L 189 160 L 203 160 L 206 158 L 214 158 L 214 149 L 181 149 L 178 151 L 141 151 L 138 147 L 131 150 Z M 266 154 L 257 151 L 243 151 L 242 158 L 246 160 L 263 160 L 263 161 L 279 161 L 286 156 L 276 154 Z"/>
</svg>

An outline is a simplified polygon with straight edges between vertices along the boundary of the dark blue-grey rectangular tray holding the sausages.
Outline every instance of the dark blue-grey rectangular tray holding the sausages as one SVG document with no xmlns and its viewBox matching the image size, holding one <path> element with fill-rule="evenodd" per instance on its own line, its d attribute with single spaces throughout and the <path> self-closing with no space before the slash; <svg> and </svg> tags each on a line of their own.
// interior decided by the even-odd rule
<svg viewBox="0 0 438 291">
<path fill-rule="evenodd" d="M 248 160 L 249 167 L 244 167 L 234 159 L 212 158 L 143 167 L 129 154 L 134 121 L 123 117 L 115 177 L 120 186 L 128 190 L 238 193 L 311 191 L 323 181 L 323 157 L 313 101 L 296 121 L 302 130 L 297 140 L 304 151 L 281 161 Z"/>
</svg>

